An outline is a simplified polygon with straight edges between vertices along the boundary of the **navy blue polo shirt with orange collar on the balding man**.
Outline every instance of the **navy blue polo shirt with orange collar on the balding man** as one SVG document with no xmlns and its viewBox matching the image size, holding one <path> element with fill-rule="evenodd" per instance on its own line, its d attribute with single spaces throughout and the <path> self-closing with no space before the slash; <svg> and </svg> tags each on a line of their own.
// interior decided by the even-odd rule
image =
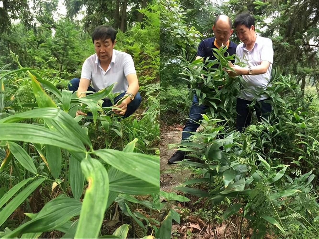
<svg viewBox="0 0 319 239">
<path fill-rule="evenodd" d="M 197 48 L 197 56 L 204 57 L 204 61 L 206 60 L 207 57 L 209 57 L 209 60 L 216 60 L 216 57 L 213 55 L 213 48 L 217 48 L 214 45 L 215 37 L 211 38 L 206 38 L 202 40 Z M 229 55 L 234 55 L 236 54 L 236 48 L 237 44 L 229 40 L 229 46 L 226 52 L 224 53 L 224 56 L 227 56 L 227 52 Z M 235 59 L 231 60 L 231 62 L 234 64 Z M 212 68 L 218 68 L 219 64 L 215 64 L 212 66 Z"/>
</svg>

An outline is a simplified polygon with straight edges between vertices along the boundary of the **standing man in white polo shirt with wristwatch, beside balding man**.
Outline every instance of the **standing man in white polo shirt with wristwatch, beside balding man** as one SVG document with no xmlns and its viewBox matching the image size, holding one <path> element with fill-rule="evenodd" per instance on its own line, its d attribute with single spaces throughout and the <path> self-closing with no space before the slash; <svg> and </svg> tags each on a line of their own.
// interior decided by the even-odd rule
<svg viewBox="0 0 319 239">
<path fill-rule="evenodd" d="M 242 41 L 236 48 L 236 62 L 244 62 L 246 67 L 234 65 L 236 73 L 228 71 L 231 76 L 242 75 L 244 83 L 237 96 L 236 128 L 242 131 L 249 126 L 252 112 L 247 107 L 256 100 L 255 111 L 258 121 L 266 118 L 271 112 L 271 105 L 267 103 L 268 96 L 262 94 L 271 79 L 271 66 L 274 51 L 269 38 L 256 35 L 255 19 L 249 13 L 242 13 L 235 18 L 234 27 L 237 36 Z M 235 63 L 236 63 L 235 62 Z"/>
</svg>

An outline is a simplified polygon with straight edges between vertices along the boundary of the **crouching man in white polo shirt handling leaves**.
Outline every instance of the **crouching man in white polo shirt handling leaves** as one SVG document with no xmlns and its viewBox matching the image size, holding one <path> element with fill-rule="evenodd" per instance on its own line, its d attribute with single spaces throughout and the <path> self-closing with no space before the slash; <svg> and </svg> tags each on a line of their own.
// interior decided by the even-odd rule
<svg viewBox="0 0 319 239">
<path fill-rule="evenodd" d="M 120 93 L 115 97 L 115 105 L 121 110 L 113 111 L 126 118 L 135 112 L 141 103 L 141 96 L 138 92 L 139 85 L 130 54 L 117 51 L 115 46 L 116 31 L 109 26 L 98 26 L 93 34 L 95 54 L 85 60 L 82 66 L 81 79 L 74 78 L 70 81 L 70 91 L 77 91 L 79 98 L 85 97 L 85 91 L 99 91 L 115 83 L 113 93 Z M 92 87 L 90 86 L 92 84 Z M 122 97 L 126 98 L 121 104 L 116 104 Z M 111 107 L 112 103 L 104 99 L 102 107 Z M 84 114 L 77 111 L 77 115 Z"/>
</svg>

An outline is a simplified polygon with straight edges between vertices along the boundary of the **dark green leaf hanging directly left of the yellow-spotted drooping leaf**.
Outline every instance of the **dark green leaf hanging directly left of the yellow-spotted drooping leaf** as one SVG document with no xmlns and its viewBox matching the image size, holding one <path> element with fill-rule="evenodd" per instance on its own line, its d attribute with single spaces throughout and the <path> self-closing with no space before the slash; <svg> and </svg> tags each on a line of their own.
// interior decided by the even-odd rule
<svg viewBox="0 0 319 239">
<path fill-rule="evenodd" d="M 81 163 L 73 155 L 69 161 L 69 182 L 73 198 L 79 200 L 83 193 L 85 176 L 81 169 Z"/>
</svg>

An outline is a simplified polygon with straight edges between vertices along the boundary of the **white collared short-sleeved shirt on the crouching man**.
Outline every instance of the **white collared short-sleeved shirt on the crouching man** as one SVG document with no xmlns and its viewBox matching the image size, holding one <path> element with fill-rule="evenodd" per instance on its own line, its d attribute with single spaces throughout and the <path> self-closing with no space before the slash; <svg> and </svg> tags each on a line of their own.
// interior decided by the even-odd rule
<svg viewBox="0 0 319 239">
<path fill-rule="evenodd" d="M 113 49 L 111 63 L 106 71 L 101 67 L 97 55 L 93 54 L 83 63 L 81 78 L 90 80 L 96 91 L 115 83 L 113 93 L 122 93 L 128 88 L 126 76 L 131 73 L 136 74 L 132 56 Z"/>
</svg>

